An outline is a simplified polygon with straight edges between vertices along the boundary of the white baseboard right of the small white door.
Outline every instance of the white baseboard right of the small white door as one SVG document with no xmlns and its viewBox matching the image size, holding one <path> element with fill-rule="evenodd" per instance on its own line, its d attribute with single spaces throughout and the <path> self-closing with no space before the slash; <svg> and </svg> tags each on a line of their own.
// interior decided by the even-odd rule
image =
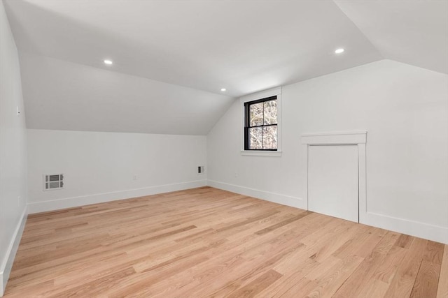
<svg viewBox="0 0 448 298">
<path fill-rule="evenodd" d="M 362 218 L 361 223 L 365 225 L 448 244 L 448 228 L 446 227 L 372 212 L 367 212 Z"/>
</svg>

